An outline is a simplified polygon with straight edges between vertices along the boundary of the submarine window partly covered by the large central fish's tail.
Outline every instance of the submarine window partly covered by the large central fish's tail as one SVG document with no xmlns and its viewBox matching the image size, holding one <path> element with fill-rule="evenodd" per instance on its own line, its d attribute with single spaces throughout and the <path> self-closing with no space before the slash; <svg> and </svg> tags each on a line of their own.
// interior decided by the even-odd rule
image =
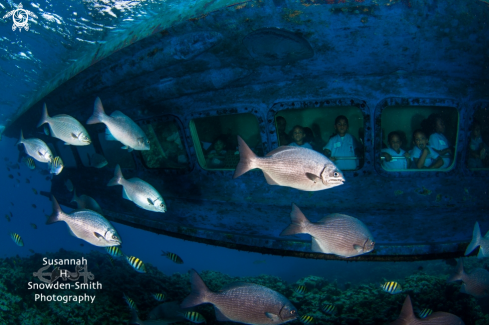
<svg viewBox="0 0 489 325">
<path fill-rule="evenodd" d="M 250 113 L 212 116 L 190 121 L 190 131 L 200 166 L 234 170 L 239 162 L 239 135 L 258 156 L 263 146 L 256 116 Z"/>
</svg>

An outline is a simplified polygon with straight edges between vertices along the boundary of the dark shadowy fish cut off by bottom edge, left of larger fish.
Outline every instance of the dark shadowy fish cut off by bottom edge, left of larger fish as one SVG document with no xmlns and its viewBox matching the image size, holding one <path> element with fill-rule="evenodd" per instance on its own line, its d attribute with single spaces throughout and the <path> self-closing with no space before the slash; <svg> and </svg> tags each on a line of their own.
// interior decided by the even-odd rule
<svg viewBox="0 0 489 325">
<path fill-rule="evenodd" d="M 139 325 L 163 325 L 185 321 L 184 311 L 175 302 L 165 302 L 153 308 L 148 314 L 148 320 L 139 319 L 135 311 L 132 312 L 132 319 L 129 324 Z"/>
</svg>

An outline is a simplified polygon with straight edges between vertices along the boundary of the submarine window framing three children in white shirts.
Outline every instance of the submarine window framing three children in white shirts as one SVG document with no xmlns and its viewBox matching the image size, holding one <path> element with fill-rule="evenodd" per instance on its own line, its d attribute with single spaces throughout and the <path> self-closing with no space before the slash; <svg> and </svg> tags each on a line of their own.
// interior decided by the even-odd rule
<svg viewBox="0 0 489 325">
<path fill-rule="evenodd" d="M 390 172 L 449 170 L 457 151 L 458 123 L 455 107 L 386 107 L 376 130 L 382 139 L 382 167 Z M 419 159 L 425 147 L 423 164 Z"/>
</svg>

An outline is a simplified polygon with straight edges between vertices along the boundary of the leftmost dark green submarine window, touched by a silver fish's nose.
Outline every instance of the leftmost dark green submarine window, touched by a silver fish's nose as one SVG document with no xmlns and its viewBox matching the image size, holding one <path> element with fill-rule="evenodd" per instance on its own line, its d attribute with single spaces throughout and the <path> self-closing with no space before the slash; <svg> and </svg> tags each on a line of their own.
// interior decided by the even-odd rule
<svg viewBox="0 0 489 325">
<path fill-rule="evenodd" d="M 149 151 L 141 151 L 147 168 L 188 167 L 187 151 L 175 121 L 153 122 L 141 125 L 141 128 L 151 147 Z"/>
</svg>

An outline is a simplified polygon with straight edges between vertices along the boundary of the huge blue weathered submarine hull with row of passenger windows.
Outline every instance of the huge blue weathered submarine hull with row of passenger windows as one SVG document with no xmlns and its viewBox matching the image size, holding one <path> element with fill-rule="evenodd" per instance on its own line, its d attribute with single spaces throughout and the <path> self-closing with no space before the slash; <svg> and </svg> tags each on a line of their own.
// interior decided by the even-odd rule
<svg viewBox="0 0 489 325">
<path fill-rule="evenodd" d="M 62 158 L 64 170 L 42 194 L 75 207 L 69 179 L 108 220 L 131 227 L 264 254 L 345 259 L 312 252 L 308 235 L 280 236 L 295 203 L 311 221 L 342 213 L 369 228 L 375 249 L 349 261 L 463 256 L 475 222 L 489 230 L 488 161 L 470 164 L 475 123 L 489 144 L 488 12 L 480 0 L 188 4 L 80 53 L 19 105 L 4 135 L 17 138 L 22 129 Z M 103 124 L 86 125 L 97 97 L 107 114 L 133 119 L 151 150 L 122 150 L 105 139 Z M 92 145 L 39 135 L 44 103 L 51 116 L 80 121 Z M 443 117 L 453 148 L 448 166 L 386 169 L 389 133 L 412 150 L 413 132 L 433 114 Z M 285 133 L 307 128 L 322 151 L 338 116 L 358 143 L 353 157 L 338 157 L 353 162 L 342 170 L 343 185 L 315 192 L 272 186 L 260 170 L 233 179 L 237 136 L 265 156 L 285 144 L 280 117 Z M 222 156 L 209 159 L 217 139 Z M 108 165 L 90 167 L 93 153 Z M 140 209 L 120 187 L 107 187 L 116 165 L 155 187 L 167 212 Z"/>
</svg>

